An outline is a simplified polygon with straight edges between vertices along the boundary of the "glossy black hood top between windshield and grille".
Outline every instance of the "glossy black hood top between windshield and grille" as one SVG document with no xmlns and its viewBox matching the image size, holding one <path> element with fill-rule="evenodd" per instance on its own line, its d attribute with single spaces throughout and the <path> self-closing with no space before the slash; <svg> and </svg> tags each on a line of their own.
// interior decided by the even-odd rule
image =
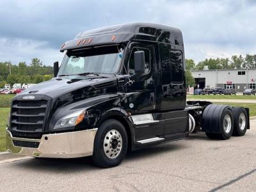
<svg viewBox="0 0 256 192">
<path fill-rule="evenodd" d="M 117 92 L 116 77 L 111 76 L 67 76 L 36 84 L 17 95 L 45 95 L 55 107 L 98 95 Z M 15 99 L 15 98 L 14 98 Z"/>
</svg>

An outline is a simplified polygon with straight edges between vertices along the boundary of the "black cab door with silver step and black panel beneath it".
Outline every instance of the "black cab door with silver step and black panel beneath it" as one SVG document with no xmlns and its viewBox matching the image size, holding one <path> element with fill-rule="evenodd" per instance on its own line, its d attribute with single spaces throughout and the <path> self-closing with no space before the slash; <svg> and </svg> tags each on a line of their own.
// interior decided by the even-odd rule
<svg viewBox="0 0 256 192">
<path fill-rule="evenodd" d="M 155 45 L 133 43 L 129 47 L 129 58 L 127 58 L 127 73 L 131 85 L 126 86 L 126 95 L 124 108 L 131 113 L 132 120 L 140 119 L 141 124 L 134 121 L 134 140 L 146 140 L 163 136 L 164 122 L 159 121 L 156 111 L 156 58 L 154 56 Z M 145 53 L 145 72 L 136 74 L 134 67 L 134 52 L 144 51 Z M 152 120 L 148 123 L 148 120 Z"/>
</svg>

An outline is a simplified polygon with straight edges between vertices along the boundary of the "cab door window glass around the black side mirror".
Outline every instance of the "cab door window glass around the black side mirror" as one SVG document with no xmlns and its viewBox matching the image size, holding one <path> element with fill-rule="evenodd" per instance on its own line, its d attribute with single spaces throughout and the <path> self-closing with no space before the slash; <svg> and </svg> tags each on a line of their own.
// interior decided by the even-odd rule
<svg viewBox="0 0 256 192">
<path fill-rule="evenodd" d="M 134 68 L 134 52 L 135 51 L 144 51 L 145 52 L 145 74 L 150 72 L 150 51 L 149 49 L 134 47 L 132 48 L 131 55 L 129 58 L 129 74 L 132 76 L 135 74 Z"/>
</svg>

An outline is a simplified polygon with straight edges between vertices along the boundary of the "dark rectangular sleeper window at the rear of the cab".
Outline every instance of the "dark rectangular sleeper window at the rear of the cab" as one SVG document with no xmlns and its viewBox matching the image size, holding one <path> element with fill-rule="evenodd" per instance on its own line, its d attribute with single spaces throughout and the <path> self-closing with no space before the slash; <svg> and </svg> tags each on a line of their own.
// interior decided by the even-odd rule
<svg viewBox="0 0 256 192">
<path fill-rule="evenodd" d="M 181 51 L 170 51 L 171 81 L 172 83 L 183 83 L 183 61 Z"/>
</svg>

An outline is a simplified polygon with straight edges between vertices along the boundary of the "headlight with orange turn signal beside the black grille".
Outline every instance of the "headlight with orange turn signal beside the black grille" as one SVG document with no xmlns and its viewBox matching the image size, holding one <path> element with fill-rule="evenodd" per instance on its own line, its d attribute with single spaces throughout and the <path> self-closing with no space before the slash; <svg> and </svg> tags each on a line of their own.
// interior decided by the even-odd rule
<svg viewBox="0 0 256 192">
<path fill-rule="evenodd" d="M 86 115 L 85 110 L 76 111 L 75 113 L 66 115 L 63 118 L 60 118 L 58 122 L 56 122 L 53 129 L 76 126 L 77 124 L 83 121 L 85 115 Z"/>
</svg>

